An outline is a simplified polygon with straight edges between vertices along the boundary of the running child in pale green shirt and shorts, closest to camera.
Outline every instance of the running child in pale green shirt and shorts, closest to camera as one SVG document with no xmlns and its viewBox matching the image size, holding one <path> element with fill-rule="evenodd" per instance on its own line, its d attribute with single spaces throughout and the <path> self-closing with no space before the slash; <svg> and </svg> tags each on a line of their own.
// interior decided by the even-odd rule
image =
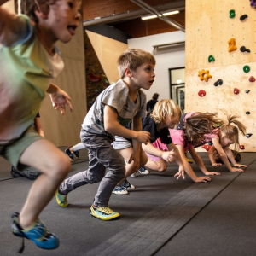
<svg viewBox="0 0 256 256">
<path fill-rule="evenodd" d="M 59 239 L 38 215 L 70 171 L 70 161 L 30 126 L 45 91 L 62 114 L 65 104 L 72 110 L 67 93 L 50 83 L 64 65 L 55 43 L 73 38 L 80 4 L 77 0 L 21 0 L 26 15 L 15 15 L 3 8 L 6 2 L 0 0 L 0 154 L 19 171 L 33 166 L 42 172 L 20 214 L 13 214 L 12 230 L 38 247 L 54 249 Z"/>
</svg>

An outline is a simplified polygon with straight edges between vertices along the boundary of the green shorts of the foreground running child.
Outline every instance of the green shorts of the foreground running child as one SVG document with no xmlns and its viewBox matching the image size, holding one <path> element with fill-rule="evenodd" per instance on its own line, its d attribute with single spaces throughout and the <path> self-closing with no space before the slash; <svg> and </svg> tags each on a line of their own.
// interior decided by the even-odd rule
<svg viewBox="0 0 256 256">
<path fill-rule="evenodd" d="M 28 148 L 32 143 L 44 139 L 37 131 L 32 127 L 28 128 L 19 138 L 14 142 L 7 145 L 0 145 L 0 155 L 15 166 L 16 170 L 26 170 L 28 166 L 20 164 L 20 155 Z"/>
</svg>

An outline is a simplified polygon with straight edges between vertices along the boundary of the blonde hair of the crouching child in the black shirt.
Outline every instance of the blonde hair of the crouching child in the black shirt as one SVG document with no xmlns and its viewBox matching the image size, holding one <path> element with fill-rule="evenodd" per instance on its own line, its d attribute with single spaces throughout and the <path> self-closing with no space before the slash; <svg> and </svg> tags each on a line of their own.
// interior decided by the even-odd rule
<svg viewBox="0 0 256 256">
<path fill-rule="evenodd" d="M 152 119 L 154 119 L 154 123 L 160 124 L 164 122 L 167 115 L 171 115 L 177 121 L 181 119 L 182 113 L 177 103 L 172 100 L 160 100 L 156 102 L 153 112 L 150 114 Z"/>
</svg>

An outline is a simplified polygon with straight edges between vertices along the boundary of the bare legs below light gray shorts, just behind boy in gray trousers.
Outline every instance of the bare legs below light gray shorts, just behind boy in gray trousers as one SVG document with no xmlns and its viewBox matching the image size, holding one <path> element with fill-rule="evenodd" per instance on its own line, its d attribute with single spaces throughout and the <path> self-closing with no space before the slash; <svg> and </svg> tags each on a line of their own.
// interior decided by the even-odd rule
<svg viewBox="0 0 256 256">
<path fill-rule="evenodd" d="M 120 149 L 120 150 L 118 150 L 118 152 L 126 160 L 126 162 L 128 162 L 131 154 L 133 153 L 133 148 Z M 147 155 L 145 154 L 145 152 L 143 150 L 141 150 L 141 154 L 140 154 L 141 166 L 144 166 L 147 163 L 147 160 L 148 160 Z M 121 185 L 127 177 L 131 176 L 132 173 L 134 173 L 133 161 L 131 161 L 131 164 L 127 164 L 125 166 L 125 178 L 123 180 L 121 180 L 117 185 L 118 186 Z"/>
</svg>

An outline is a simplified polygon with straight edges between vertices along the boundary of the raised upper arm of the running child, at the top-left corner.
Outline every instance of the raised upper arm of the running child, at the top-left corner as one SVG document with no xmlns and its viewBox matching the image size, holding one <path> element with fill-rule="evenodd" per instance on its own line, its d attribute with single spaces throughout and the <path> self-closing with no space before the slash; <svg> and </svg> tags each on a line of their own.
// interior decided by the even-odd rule
<svg viewBox="0 0 256 256">
<path fill-rule="evenodd" d="M 0 0 L 0 44 L 9 46 L 26 34 L 26 21 L 3 8 L 6 2 L 8 0 Z"/>
</svg>

